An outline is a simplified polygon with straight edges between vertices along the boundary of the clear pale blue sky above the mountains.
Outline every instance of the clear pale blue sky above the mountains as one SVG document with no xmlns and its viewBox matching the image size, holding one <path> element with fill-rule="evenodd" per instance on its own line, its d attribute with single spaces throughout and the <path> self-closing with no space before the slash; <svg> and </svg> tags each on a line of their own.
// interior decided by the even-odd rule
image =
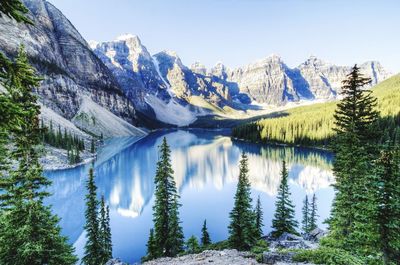
<svg viewBox="0 0 400 265">
<path fill-rule="evenodd" d="M 315 55 L 400 72 L 399 0 L 49 0 L 87 40 L 132 33 L 151 53 L 186 65 L 236 67 L 279 54 L 291 67 Z"/>
</svg>

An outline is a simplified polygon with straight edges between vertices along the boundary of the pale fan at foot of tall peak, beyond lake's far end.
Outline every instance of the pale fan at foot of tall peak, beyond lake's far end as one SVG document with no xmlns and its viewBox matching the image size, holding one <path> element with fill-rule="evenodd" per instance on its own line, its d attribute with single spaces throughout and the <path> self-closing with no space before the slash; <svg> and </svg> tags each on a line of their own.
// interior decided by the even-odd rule
<svg viewBox="0 0 400 265">
<path fill-rule="evenodd" d="M 162 122 L 177 126 L 187 126 L 197 119 L 196 114 L 188 106 L 184 107 L 175 100 L 170 100 L 166 103 L 158 97 L 149 94 L 146 95 L 145 101 L 153 108 L 157 119 Z"/>
</svg>

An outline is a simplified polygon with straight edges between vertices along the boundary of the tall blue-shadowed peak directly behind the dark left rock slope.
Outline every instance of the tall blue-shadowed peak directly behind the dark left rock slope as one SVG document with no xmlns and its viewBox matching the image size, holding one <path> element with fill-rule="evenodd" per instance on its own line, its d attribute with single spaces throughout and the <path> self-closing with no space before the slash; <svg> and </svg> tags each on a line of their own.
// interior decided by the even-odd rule
<svg viewBox="0 0 400 265">
<path fill-rule="evenodd" d="M 137 36 L 124 35 L 115 41 L 92 43 L 92 48 L 135 107 L 151 118 L 188 125 L 197 115 L 211 113 L 208 105 L 228 104 L 226 86 L 218 87 L 211 78 L 191 71 L 174 52 L 150 55 Z"/>
</svg>

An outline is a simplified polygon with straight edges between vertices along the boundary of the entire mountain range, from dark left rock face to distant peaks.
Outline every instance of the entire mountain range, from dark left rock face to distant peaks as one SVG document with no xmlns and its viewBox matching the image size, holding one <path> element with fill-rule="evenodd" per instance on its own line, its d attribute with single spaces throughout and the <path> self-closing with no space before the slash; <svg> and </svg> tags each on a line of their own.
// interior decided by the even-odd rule
<svg viewBox="0 0 400 265">
<path fill-rule="evenodd" d="M 84 133 L 140 135 L 138 126 L 187 126 L 199 116 L 245 117 L 289 102 L 328 101 L 340 95 L 351 67 L 311 56 L 291 68 L 277 55 L 235 69 L 188 67 L 175 52 L 151 54 L 135 35 L 88 43 L 52 4 L 23 2 L 35 25 L 1 17 L 0 50 L 14 57 L 24 44 L 44 78 L 36 93 L 54 112 L 44 119 L 61 116 Z M 391 76 L 376 61 L 360 67 L 371 85 Z"/>
</svg>

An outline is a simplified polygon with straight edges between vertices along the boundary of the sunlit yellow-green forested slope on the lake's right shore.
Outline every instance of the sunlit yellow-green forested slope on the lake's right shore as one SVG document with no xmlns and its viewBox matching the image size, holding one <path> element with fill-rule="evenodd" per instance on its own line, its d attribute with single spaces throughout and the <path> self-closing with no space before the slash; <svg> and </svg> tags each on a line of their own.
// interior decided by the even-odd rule
<svg viewBox="0 0 400 265">
<path fill-rule="evenodd" d="M 383 117 L 400 114 L 400 75 L 393 76 L 373 89 L 378 99 L 378 109 Z M 234 136 L 249 140 L 323 144 L 333 136 L 333 113 L 336 102 L 297 107 L 281 113 L 281 117 L 257 121 L 253 126 L 234 129 Z"/>
</svg>

